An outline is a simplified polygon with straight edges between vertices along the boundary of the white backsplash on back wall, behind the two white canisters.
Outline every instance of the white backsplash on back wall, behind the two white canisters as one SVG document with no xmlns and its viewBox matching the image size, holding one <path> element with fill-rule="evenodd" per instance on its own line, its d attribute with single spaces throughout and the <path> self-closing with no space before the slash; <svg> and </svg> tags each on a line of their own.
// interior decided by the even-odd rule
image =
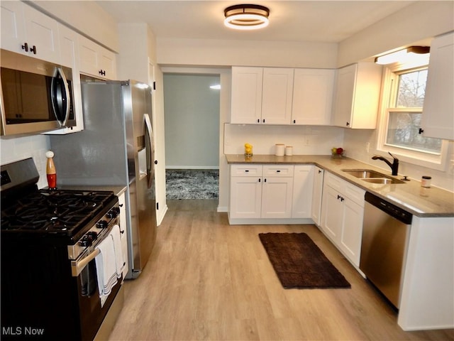
<svg viewBox="0 0 454 341">
<path fill-rule="evenodd" d="M 248 143 L 255 154 L 274 154 L 275 145 L 284 144 L 293 146 L 294 155 L 329 155 L 331 148 L 343 147 L 343 131 L 334 126 L 225 124 L 224 153 L 243 154 Z"/>
</svg>

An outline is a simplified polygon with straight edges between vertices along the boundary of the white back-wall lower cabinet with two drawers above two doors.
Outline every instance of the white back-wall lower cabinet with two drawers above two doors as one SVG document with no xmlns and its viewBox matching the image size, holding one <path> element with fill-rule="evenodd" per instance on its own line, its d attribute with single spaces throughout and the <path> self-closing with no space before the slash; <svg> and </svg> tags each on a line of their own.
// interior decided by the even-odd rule
<svg viewBox="0 0 454 341">
<path fill-rule="evenodd" d="M 293 165 L 232 165 L 229 218 L 292 217 L 293 171 Z"/>
</svg>

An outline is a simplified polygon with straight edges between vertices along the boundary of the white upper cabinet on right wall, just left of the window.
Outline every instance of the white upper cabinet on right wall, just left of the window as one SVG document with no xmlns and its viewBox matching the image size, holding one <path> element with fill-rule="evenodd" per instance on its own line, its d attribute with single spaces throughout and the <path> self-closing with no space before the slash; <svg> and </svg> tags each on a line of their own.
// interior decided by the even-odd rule
<svg viewBox="0 0 454 341">
<path fill-rule="evenodd" d="M 333 125 L 375 129 L 382 83 L 382 66 L 357 63 L 338 70 Z"/>
</svg>

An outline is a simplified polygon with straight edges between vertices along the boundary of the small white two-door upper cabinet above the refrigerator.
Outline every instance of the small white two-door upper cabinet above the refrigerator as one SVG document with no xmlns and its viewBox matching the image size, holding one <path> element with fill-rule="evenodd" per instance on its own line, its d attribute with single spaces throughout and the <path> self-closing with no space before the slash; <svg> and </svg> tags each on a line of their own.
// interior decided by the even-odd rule
<svg viewBox="0 0 454 341">
<path fill-rule="evenodd" d="M 106 80 L 116 80 L 115 53 L 79 36 L 80 72 Z"/>
</svg>

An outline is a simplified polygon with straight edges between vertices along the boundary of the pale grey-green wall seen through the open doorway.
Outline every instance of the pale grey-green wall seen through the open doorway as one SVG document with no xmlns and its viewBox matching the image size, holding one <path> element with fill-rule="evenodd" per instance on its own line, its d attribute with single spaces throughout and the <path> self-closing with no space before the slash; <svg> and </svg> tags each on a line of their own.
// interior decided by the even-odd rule
<svg viewBox="0 0 454 341">
<path fill-rule="evenodd" d="M 219 75 L 164 74 L 166 168 L 219 167 Z"/>
</svg>

